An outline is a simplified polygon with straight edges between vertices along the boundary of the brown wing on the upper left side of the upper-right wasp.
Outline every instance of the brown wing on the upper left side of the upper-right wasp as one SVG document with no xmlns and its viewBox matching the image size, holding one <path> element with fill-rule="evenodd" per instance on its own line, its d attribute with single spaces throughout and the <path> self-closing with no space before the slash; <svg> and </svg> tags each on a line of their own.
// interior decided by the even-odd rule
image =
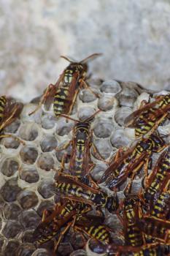
<svg viewBox="0 0 170 256">
<path fill-rule="evenodd" d="M 154 102 L 144 105 L 143 108 L 140 108 L 139 110 L 136 110 L 133 113 L 131 113 L 131 115 L 129 115 L 125 118 L 125 121 L 124 121 L 125 126 L 130 127 L 130 128 L 135 128 L 136 124 L 137 124 L 136 122 L 137 122 L 137 119 L 139 118 L 139 116 L 141 116 L 142 113 L 144 113 L 146 110 L 149 110 L 150 108 L 154 108 L 155 105 L 161 101 L 161 99 L 162 99 L 162 97 L 160 99 L 156 99 Z M 152 113 L 150 113 L 150 114 L 152 115 Z"/>
</svg>

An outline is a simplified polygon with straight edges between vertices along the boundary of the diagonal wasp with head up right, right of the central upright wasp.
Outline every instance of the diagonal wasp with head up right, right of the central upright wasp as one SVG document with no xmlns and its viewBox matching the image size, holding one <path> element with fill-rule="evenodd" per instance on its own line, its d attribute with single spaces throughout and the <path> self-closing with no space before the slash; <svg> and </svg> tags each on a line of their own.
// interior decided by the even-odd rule
<svg viewBox="0 0 170 256">
<path fill-rule="evenodd" d="M 128 149 L 128 151 L 123 152 L 120 155 L 120 150 L 114 159 L 109 163 L 109 167 L 105 170 L 104 175 L 98 182 L 105 184 L 109 189 L 114 190 L 120 187 L 123 182 L 129 177 L 131 177 L 131 182 L 133 181 L 136 173 L 142 169 L 144 166 L 144 171 L 147 173 L 148 162 L 150 160 L 152 152 L 160 152 L 166 147 L 166 143 L 161 138 L 158 133 L 150 135 L 149 138 L 142 138 L 133 146 Z M 131 183 L 128 185 L 128 188 Z"/>
</svg>

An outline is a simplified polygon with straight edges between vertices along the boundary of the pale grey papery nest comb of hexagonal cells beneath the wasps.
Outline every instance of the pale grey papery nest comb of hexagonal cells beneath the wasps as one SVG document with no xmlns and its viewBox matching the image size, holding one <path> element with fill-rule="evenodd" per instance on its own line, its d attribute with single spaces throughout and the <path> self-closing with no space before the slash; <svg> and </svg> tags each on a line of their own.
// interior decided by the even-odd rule
<svg viewBox="0 0 170 256">
<path fill-rule="evenodd" d="M 100 109 L 91 123 L 93 143 L 104 159 L 109 159 L 117 148 L 133 143 L 133 132 L 124 129 L 124 120 L 142 99 L 149 94 L 136 83 L 123 83 L 116 80 L 91 80 L 90 86 L 100 97 L 87 90 L 80 91 L 72 117 L 83 120 Z M 44 106 L 34 115 L 28 116 L 36 108 L 36 101 L 26 104 L 20 115 L 5 132 L 21 138 L 25 145 L 13 138 L 1 140 L 1 236 L 0 255 L 5 256 L 42 256 L 52 255 L 51 244 L 37 249 L 32 244 L 32 234 L 42 219 L 45 209 L 53 209 L 58 200 L 53 195 L 52 186 L 57 170 L 61 167 L 63 154 L 71 148 L 55 151 L 68 140 L 72 140 L 74 121 L 55 118 L 53 108 Z M 36 102 L 36 103 L 35 103 Z M 93 150 L 92 160 L 96 166 L 91 171 L 93 178 L 101 178 L 107 164 L 96 159 Z M 68 159 L 69 161 L 69 159 Z M 136 176 L 132 190 L 141 187 L 141 177 Z M 123 191 L 117 192 L 123 197 Z M 108 191 L 107 191 L 108 192 Z M 120 231 L 121 225 L 115 214 L 106 213 L 104 223 Z M 67 233 L 58 248 L 57 255 L 90 255 L 82 249 L 83 241 L 79 233 Z M 101 253 L 102 255 L 102 253 Z"/>
</svg>

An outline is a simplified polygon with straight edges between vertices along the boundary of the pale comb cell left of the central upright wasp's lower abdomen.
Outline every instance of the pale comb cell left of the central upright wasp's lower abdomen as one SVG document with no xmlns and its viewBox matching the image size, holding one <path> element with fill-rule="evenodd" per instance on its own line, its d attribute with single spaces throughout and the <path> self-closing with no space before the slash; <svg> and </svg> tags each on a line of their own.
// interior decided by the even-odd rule
<svg viewBox="0 0 170 256">
<path fill-rule="evenodd" d="M 42 170 L 50 171 L 54 168 L 54 159 L 48 153 L 41 154 L 37 161 L 37 165 Z"/>
</svg>

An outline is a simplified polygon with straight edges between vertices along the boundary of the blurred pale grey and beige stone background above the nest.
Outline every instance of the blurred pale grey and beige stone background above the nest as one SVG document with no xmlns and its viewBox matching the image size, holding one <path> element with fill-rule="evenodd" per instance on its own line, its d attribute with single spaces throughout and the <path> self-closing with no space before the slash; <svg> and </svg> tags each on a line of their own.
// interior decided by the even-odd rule
<svg viewBox="0 0 170 256">
<path fill-rule="evenodd" d="M 1 94 L 28 102 L 68 65 L 103 56 L 90 72 L 170 89 L 169 0 L 0 0 Z"/>
</svg>

